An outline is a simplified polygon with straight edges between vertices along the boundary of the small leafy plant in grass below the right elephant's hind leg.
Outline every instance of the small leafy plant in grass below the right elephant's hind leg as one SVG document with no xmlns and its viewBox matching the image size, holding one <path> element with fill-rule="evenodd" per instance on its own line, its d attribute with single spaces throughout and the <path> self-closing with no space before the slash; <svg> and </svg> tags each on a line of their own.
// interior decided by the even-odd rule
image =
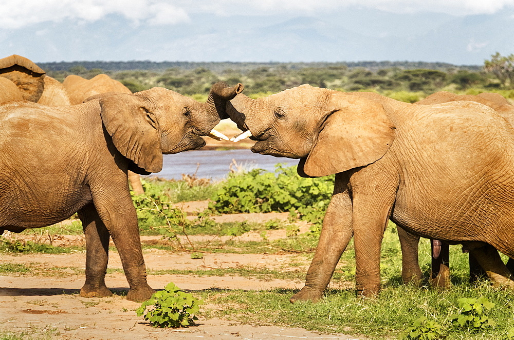
<svg viewBox="0 0 514 340">
<path fill-rule="evenodd" d="M 496 322 L 487 316 L 487 313 L 494 307 L 485 297 L 460 298 L 457 300 L 460 313 L 450 315 L 452 325 L 466 327 L 470 331 L 479 331 L 488 327 L 496 326 Z"/>
</svg>

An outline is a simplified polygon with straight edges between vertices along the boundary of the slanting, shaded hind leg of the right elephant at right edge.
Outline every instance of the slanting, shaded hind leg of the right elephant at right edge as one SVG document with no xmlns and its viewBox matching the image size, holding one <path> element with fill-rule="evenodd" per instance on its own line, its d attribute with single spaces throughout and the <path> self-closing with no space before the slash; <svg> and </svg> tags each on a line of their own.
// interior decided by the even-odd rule
<svg viewBox="0 0 514 340">
<path fill-rule="evenodd" d="M 512 281 L 510 271 L 502 262 L 498 250 L 491 245 L 485 245 L 477 248 L 470 247 L 469 253 L 474 256 L 478 264 L 487 273 L 493 286 L 514 289 L 514 281 Z"/>
</svg>

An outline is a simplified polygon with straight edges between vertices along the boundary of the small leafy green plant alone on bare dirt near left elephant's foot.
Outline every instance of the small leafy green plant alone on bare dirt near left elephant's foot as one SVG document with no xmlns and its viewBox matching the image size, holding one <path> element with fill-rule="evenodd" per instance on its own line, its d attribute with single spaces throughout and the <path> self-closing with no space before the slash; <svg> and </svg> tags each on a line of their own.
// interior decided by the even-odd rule
<svg viewBox="0 0 514 340">
<path fill-rule="evenodd" d="M 170 282 L 164 290 L 158 291 L 136 309 L 137 316 L 143 316 L 153 327 L 188 327 L 194 325 L 198 318 L 199 306 L 204 301 L 196 299 L 192 294 L 182 292 Z"/>
</svg>

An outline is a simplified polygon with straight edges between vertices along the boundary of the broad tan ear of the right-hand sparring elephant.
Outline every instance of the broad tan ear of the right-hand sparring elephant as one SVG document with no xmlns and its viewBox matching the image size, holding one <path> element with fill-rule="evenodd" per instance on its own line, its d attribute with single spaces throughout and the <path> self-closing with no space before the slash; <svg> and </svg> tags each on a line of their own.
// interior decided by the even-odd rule
<svg viewBox="0 0 514 340">
<path fill-rule="evenodd" d="M 334 93 L 317 141 L 298 173 L 320 177 L 371 164 L 394 140 L 395 127 L 379 103 Z"/>
</svg>

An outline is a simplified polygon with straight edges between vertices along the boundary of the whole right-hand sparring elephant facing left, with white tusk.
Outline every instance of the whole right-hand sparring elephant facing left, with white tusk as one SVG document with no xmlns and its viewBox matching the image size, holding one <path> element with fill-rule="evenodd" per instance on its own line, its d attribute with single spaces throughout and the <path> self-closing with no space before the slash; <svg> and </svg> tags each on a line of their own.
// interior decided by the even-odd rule
<svg viewBox="0 0 514 340">
<path fill-rule="evenodd" d="M 225 116 L 245 131 L 234 140 L 256 141 L 252 152 L 300 159 L 301 176 L 336 176 L 305 286 L 291 302 L 323 296 L 352 236 L 357 293 L 377 296 L 388 219 L 462 244 L 494 285 L 514 289 L 497 252 L 514 257 L 514 130 L 490 107 L 301 85 L 260 99 L 238 94 Z"/>
</svg>

